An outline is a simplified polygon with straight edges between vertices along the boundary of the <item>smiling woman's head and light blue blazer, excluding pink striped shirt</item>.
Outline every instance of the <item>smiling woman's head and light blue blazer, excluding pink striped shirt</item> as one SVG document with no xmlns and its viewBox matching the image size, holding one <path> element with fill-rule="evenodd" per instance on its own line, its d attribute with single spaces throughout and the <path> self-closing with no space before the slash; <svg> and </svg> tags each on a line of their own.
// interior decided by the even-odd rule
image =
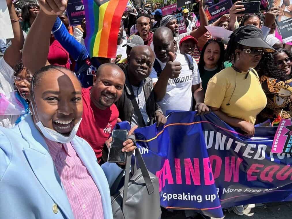
<svg viewBox="0 0 292 219">
<path fill-rule="evenodd" d="M 42 68 L 33 77 L 30 103 L 32 115 L 12 129 L 0 127 L 0 218 L 74 218 L 44 138 L 71 142 L 100 192 L 104 218 L 112 218 L 109 187 L 122 168 L 99 166 L 91 146 L 75 135 L 83 111 L 75 75 L 61 67 Z M 55 123 L 60 117 L 72 119 L 70 128 Z M 125 143 L 127 151 L 135 149 L 132 140 Z"/>
</svg>

